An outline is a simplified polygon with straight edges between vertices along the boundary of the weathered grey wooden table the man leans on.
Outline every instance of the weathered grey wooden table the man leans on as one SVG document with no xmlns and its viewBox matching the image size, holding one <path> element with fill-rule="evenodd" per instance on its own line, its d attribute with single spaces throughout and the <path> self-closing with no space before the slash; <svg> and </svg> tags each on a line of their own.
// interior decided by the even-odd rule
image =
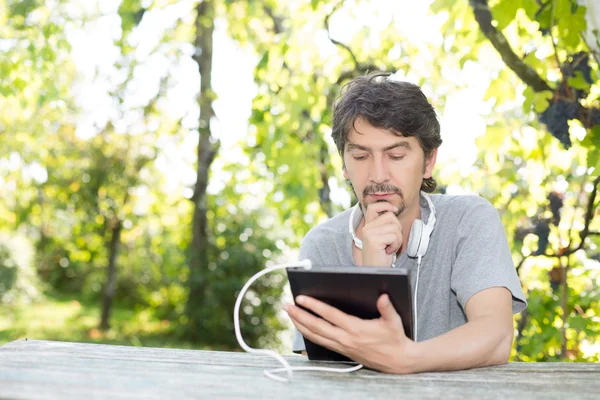
<svg viewBox="0 0 600 400">
<path fill-rule="evenodd" d="M 510 363 L 409 376 L 295 372 L 288 383 L 263 375 L 278 366 L 246 353 L 17 340 L 0 347 L 0 398 L 600 398 L 600 364 L 592 363 Z"/>
</svg>

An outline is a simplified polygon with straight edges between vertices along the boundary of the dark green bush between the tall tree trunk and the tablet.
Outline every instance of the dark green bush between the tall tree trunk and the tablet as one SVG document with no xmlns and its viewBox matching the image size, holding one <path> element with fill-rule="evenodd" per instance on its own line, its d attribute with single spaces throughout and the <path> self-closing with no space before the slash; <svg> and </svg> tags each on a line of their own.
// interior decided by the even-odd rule
<svg viewBox="0 0 600 400">
<path fill-rule="evenodd" d="M 197 336 L 207 346 L 235 349 L 238 344 L 232 311 L 237 295 L 252 275 L 272 263 L 271 259 L 277 259 L 280 249 L 274 235 L 265 229 L 272 216 L 236 210 L 231 203 L 216 207 L 211 216 L 213 261 L 205 271 L 210 283 L 204 298 L 198 299 L 202 308 L 195 314 L 201 321 Z M 240 327 L 248 343 L 261 347 L 279 345 L 278 333 L 286 326 L 277 313 L 284 283 L 284 273 L 272 273 L 257 281 L 247 293 L 240 311 Z"/>
</svg>

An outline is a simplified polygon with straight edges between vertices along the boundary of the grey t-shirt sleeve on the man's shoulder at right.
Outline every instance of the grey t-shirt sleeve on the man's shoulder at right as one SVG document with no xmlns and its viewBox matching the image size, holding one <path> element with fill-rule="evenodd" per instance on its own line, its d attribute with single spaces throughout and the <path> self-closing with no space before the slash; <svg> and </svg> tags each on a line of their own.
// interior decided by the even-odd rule
<svg viewBox="0 0 600 400">
<path fill-rule="evenodd" d="M 505 287 L 512 294 L 512 311 L 527 307 L 498 211 L 480 198 L 467 210 L 458 226 L 451 289 L 463 310 L 474 294 Z"/>
</svg>

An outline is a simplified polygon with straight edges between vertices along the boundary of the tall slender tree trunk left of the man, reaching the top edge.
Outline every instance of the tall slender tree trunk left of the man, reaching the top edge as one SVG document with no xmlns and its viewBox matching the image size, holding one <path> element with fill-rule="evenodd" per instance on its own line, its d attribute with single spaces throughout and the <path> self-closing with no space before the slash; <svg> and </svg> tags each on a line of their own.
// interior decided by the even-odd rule
<svg viewBox="0 0 600 400">
<path fill-rule="evenodd" d="M 218 142 L 212 137 L 210 120 L 214 116 L 212 101 L 214 94 L 211 86 L 213 31 L 215 8 L 212 0 L 204 0 L 196 7 L 196 39 L 194 61 L 200 72 L 200 120 L 198 126 L 198 166 L 197 179 L 192 201 L 194 215 L 192 221 L 192 243 L 189 248 L 189 297 L 186 314 L 188 316 L 187 336 L 198 339 L 202 332 L 202 321 L 199 315 L 204 302 L 206 287 L 206 267 L 209 260 L 209 236 L 207 227 L 206 187 L 210 165 L 218 151 Z"/>
</svg>

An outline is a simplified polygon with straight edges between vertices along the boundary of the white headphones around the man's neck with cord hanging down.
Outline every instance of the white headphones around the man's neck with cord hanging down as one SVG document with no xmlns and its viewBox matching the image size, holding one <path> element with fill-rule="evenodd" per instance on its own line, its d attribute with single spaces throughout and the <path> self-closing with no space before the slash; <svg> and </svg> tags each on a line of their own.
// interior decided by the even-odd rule
<svg viewBox="0 0 600 400">
<path fill-rule="evenodd" d="M 427 253 L 427 248 L 429 247 L 429 238 L 430 238 L 431 234 L 433 233 L 433 228 L 435 226 L 435 207 L 433 206 L 431 199 L 425 192 L 421 191 L 421 195 L 427 201 L 427 205 L 429 206 L 429 210 L 430 210 L 429 217 L 427 218 L 427 224 L 424 224 L 423 221 L 421 221 L 420 219 L 415 219 L 412 223 L 412 226 L 410 227 L 410 234 L 408 236 L 408 243 L 406 245 L 406 254 L 408 254 L 409 257 L 417 258 L 417 281 L 415 283 L 415 299 L 414 299 L 414 309 L 415 309 L 414 340 L 415 340 L 415 342 L 417 341 L 417 333 L 418 333 L 418 330 L 417 330 L 417 323 L 418 323 L 417 294 L 419 291 L 419 272 L 421 269 L 421 258 L 423 256 L 425 256 L 425 253 Z M 350 232 L 350 235 L 352 235 L 352 240 L 354 241 L 354 244 L 356 245 L 356 247 L 358 247 L 359 249 L 362 250 L 362 240 L 357 238 L 356 233 L 354 233 L 354 219 L 355 219 L 355 214 L 356 214 L 357 210 L 360 210 L 362 213 L 362 210 L 360 208 L 360 203 L 357 203 L 352 208 L 352 211 L 350 212 L 350 219 L 348 220 L 348 231 Z M 394 253 L 394 256 L 392 258 L 392 267 L 394 267 L 395 264 L 396 264 L 396 253 Z"/>
</svg>

